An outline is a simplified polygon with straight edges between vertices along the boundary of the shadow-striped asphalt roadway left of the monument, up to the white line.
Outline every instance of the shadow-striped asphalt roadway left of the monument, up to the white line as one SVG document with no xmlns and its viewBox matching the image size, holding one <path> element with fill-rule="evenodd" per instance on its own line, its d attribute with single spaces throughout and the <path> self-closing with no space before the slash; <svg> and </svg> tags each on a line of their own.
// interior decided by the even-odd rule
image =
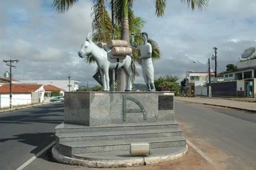
<svg viewBox="0 0 256 170">
<path fill-rule="evenodd" d="M 0 114 L 0 170 L 15 170 L 54 141 L 63 103 Z"/>
</svg>

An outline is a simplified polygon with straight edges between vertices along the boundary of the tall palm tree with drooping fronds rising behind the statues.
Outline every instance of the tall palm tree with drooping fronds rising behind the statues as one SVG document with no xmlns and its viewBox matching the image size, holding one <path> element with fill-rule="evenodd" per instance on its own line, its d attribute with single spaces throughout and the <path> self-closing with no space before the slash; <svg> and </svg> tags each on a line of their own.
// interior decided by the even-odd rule
<svg viewBox="0 0 256 170">
<path fill-rule="evenodd" d="M 68 11 L 78 0 L 53 0 L 52 8 L 58 13 L 64 13 Z M 209 0 L 180 0 L 183 3 L 187 3 L 191 9 L 201 9 L 207 7 Z M 121 25 L 121 39 L 130 42 L 129 36 L 129 22 L 133 22 L 134 15 L 131 10 L 133 6 L 133 0 L 111 0 L 111 8 L 116 23 Z M 97 37 L 102 40 L 110 39 L 113 26 L 111 25 L 109 15 L 104 5 L 104 0 L 93 1 L 93 29 L 96 30 Z M 166 0 L 155 0 L 155 14 L 157 17 L 164 15 L 166 7 Z M 108 31 L 111 30 L 111 31 Z M 125 74 L 121 70 L 118 72 L 118 91 L 125 90 Z"/>
</svg>

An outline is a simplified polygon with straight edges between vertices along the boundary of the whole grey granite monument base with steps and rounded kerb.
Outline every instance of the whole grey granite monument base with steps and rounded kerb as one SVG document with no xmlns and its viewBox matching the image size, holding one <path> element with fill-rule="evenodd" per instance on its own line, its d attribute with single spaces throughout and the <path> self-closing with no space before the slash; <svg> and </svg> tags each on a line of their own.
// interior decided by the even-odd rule
<svg viewBox="0 0 256 170">
<path fill-rule="evenodd" d="M 59 162 L 140 166 L 177 159 L 187 151 L 174 119 L 172 92 L 66 92 L 64 105 L 64 123 L 55 128 L 53 147 Z M 130 144 L 141 142 L 154 151 L 148 159 L 129 155 Z"/>
</svg>

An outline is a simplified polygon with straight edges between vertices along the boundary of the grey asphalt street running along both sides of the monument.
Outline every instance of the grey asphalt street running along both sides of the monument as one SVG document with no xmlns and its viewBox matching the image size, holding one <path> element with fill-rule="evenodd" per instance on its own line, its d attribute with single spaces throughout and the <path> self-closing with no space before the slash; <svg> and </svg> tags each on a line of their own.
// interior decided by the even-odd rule
<svg viewBox="0 0 256 170">
<path fill-rule="evenodd" d="M 175 103 L 184 136 L 213 160 L 216 169 L 256 169 L 256 114 L 239 110 Z M 45 105 L 0 115 L 0 169 L 15 170 L 52 141 L 63 121 L 63 104 Z M 51 152 L 24 170 L 87 169 L 54 162 Z"/>
</svg>

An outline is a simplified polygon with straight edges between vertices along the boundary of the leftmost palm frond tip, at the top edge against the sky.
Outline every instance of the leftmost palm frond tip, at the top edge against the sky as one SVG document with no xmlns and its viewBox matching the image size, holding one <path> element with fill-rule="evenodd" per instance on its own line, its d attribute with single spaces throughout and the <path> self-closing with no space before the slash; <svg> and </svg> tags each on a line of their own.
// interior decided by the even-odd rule
<svg viewBox="0 0 256 170">
<path fill-rule="evenodd" d="M 58 14 L 64 13 L 72 8 L 78 0 L 53 0 L 51 8 Z"/>
</svg>

